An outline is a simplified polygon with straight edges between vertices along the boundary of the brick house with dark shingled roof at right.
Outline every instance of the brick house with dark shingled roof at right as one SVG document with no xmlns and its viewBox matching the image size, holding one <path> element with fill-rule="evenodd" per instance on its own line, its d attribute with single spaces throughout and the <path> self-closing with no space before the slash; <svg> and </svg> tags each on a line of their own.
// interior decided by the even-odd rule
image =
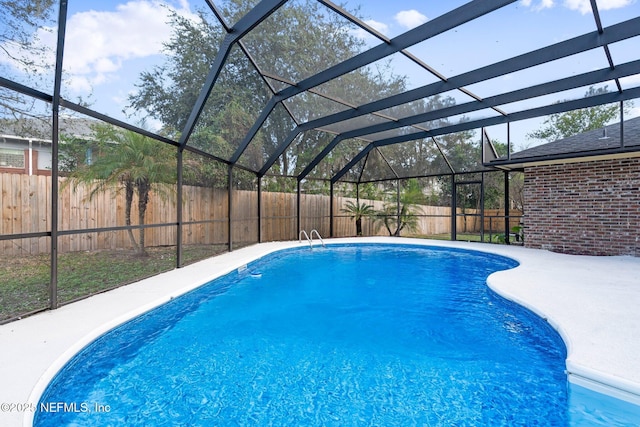
<svg viewBox="0 0 640 427">
<path fill-rule="evenodd" d="M 485 164 L 525 172 L 525 246 L 640 256 L 640 117 Z"/>
</svg>

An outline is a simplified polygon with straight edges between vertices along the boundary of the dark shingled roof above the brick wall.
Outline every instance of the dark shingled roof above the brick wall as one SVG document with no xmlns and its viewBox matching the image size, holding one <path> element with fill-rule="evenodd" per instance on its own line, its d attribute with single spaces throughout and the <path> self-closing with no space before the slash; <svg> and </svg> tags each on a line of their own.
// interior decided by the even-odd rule
<svg viewBox="0 0 640 427">
<path fill-rule="evenodd" d="M 501 157 L 488 165 L 516 169 L 531 164 L 594 160 L 595 157 L 640 156 L 640 117 L 538 145 Z"/>
</svg>

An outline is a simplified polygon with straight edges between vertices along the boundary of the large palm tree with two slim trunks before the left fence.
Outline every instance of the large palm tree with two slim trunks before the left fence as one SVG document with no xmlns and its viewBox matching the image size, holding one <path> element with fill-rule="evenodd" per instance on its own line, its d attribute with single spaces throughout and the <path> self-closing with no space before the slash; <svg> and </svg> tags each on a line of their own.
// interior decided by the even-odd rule
<svg viewBox="0 0 640 427">
<path fill-rule="evenodd" d="M 171 192 L 169 184 L 176 182 L 176 150 L 129 130 L 98 126 L 95 131 L 95 159 L 71 172 L 71 183 L 92 186 L 90 198 L 107 189 L 124 191 L 127 226 L 132 224 L 131 208 L 137 195 L 138 224 L 144 225 L 151 192 L 164 197 Z M 139 230 L 138 241 L 131 229 L 127 231 L 135 251 L 146 255 L 144 228 Z"/>
</svg>

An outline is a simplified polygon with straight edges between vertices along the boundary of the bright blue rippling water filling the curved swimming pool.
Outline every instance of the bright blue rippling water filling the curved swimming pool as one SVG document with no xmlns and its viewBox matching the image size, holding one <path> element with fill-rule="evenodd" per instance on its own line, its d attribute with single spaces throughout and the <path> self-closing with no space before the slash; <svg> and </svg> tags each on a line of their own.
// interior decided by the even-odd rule
<svg viewBox="0 0 640 427">
<path fill-rule="evenodd" d="M 34 425 L 570 425 L 564 344 L 486 286 L 516 265 L 425 246 L 278 252 L 95 340 Z"/>
</svg>

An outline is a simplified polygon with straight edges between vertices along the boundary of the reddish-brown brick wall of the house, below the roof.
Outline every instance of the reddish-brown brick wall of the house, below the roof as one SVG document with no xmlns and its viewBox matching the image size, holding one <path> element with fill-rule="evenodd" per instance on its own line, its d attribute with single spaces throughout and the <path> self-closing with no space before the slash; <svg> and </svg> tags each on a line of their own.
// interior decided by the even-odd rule
<svg viewBox="0 0 640 427">
<path fill-rule="evenodd" d="M 640 159 L 525 169 L 525 245 L 640 256 Z"/>
</svg>

